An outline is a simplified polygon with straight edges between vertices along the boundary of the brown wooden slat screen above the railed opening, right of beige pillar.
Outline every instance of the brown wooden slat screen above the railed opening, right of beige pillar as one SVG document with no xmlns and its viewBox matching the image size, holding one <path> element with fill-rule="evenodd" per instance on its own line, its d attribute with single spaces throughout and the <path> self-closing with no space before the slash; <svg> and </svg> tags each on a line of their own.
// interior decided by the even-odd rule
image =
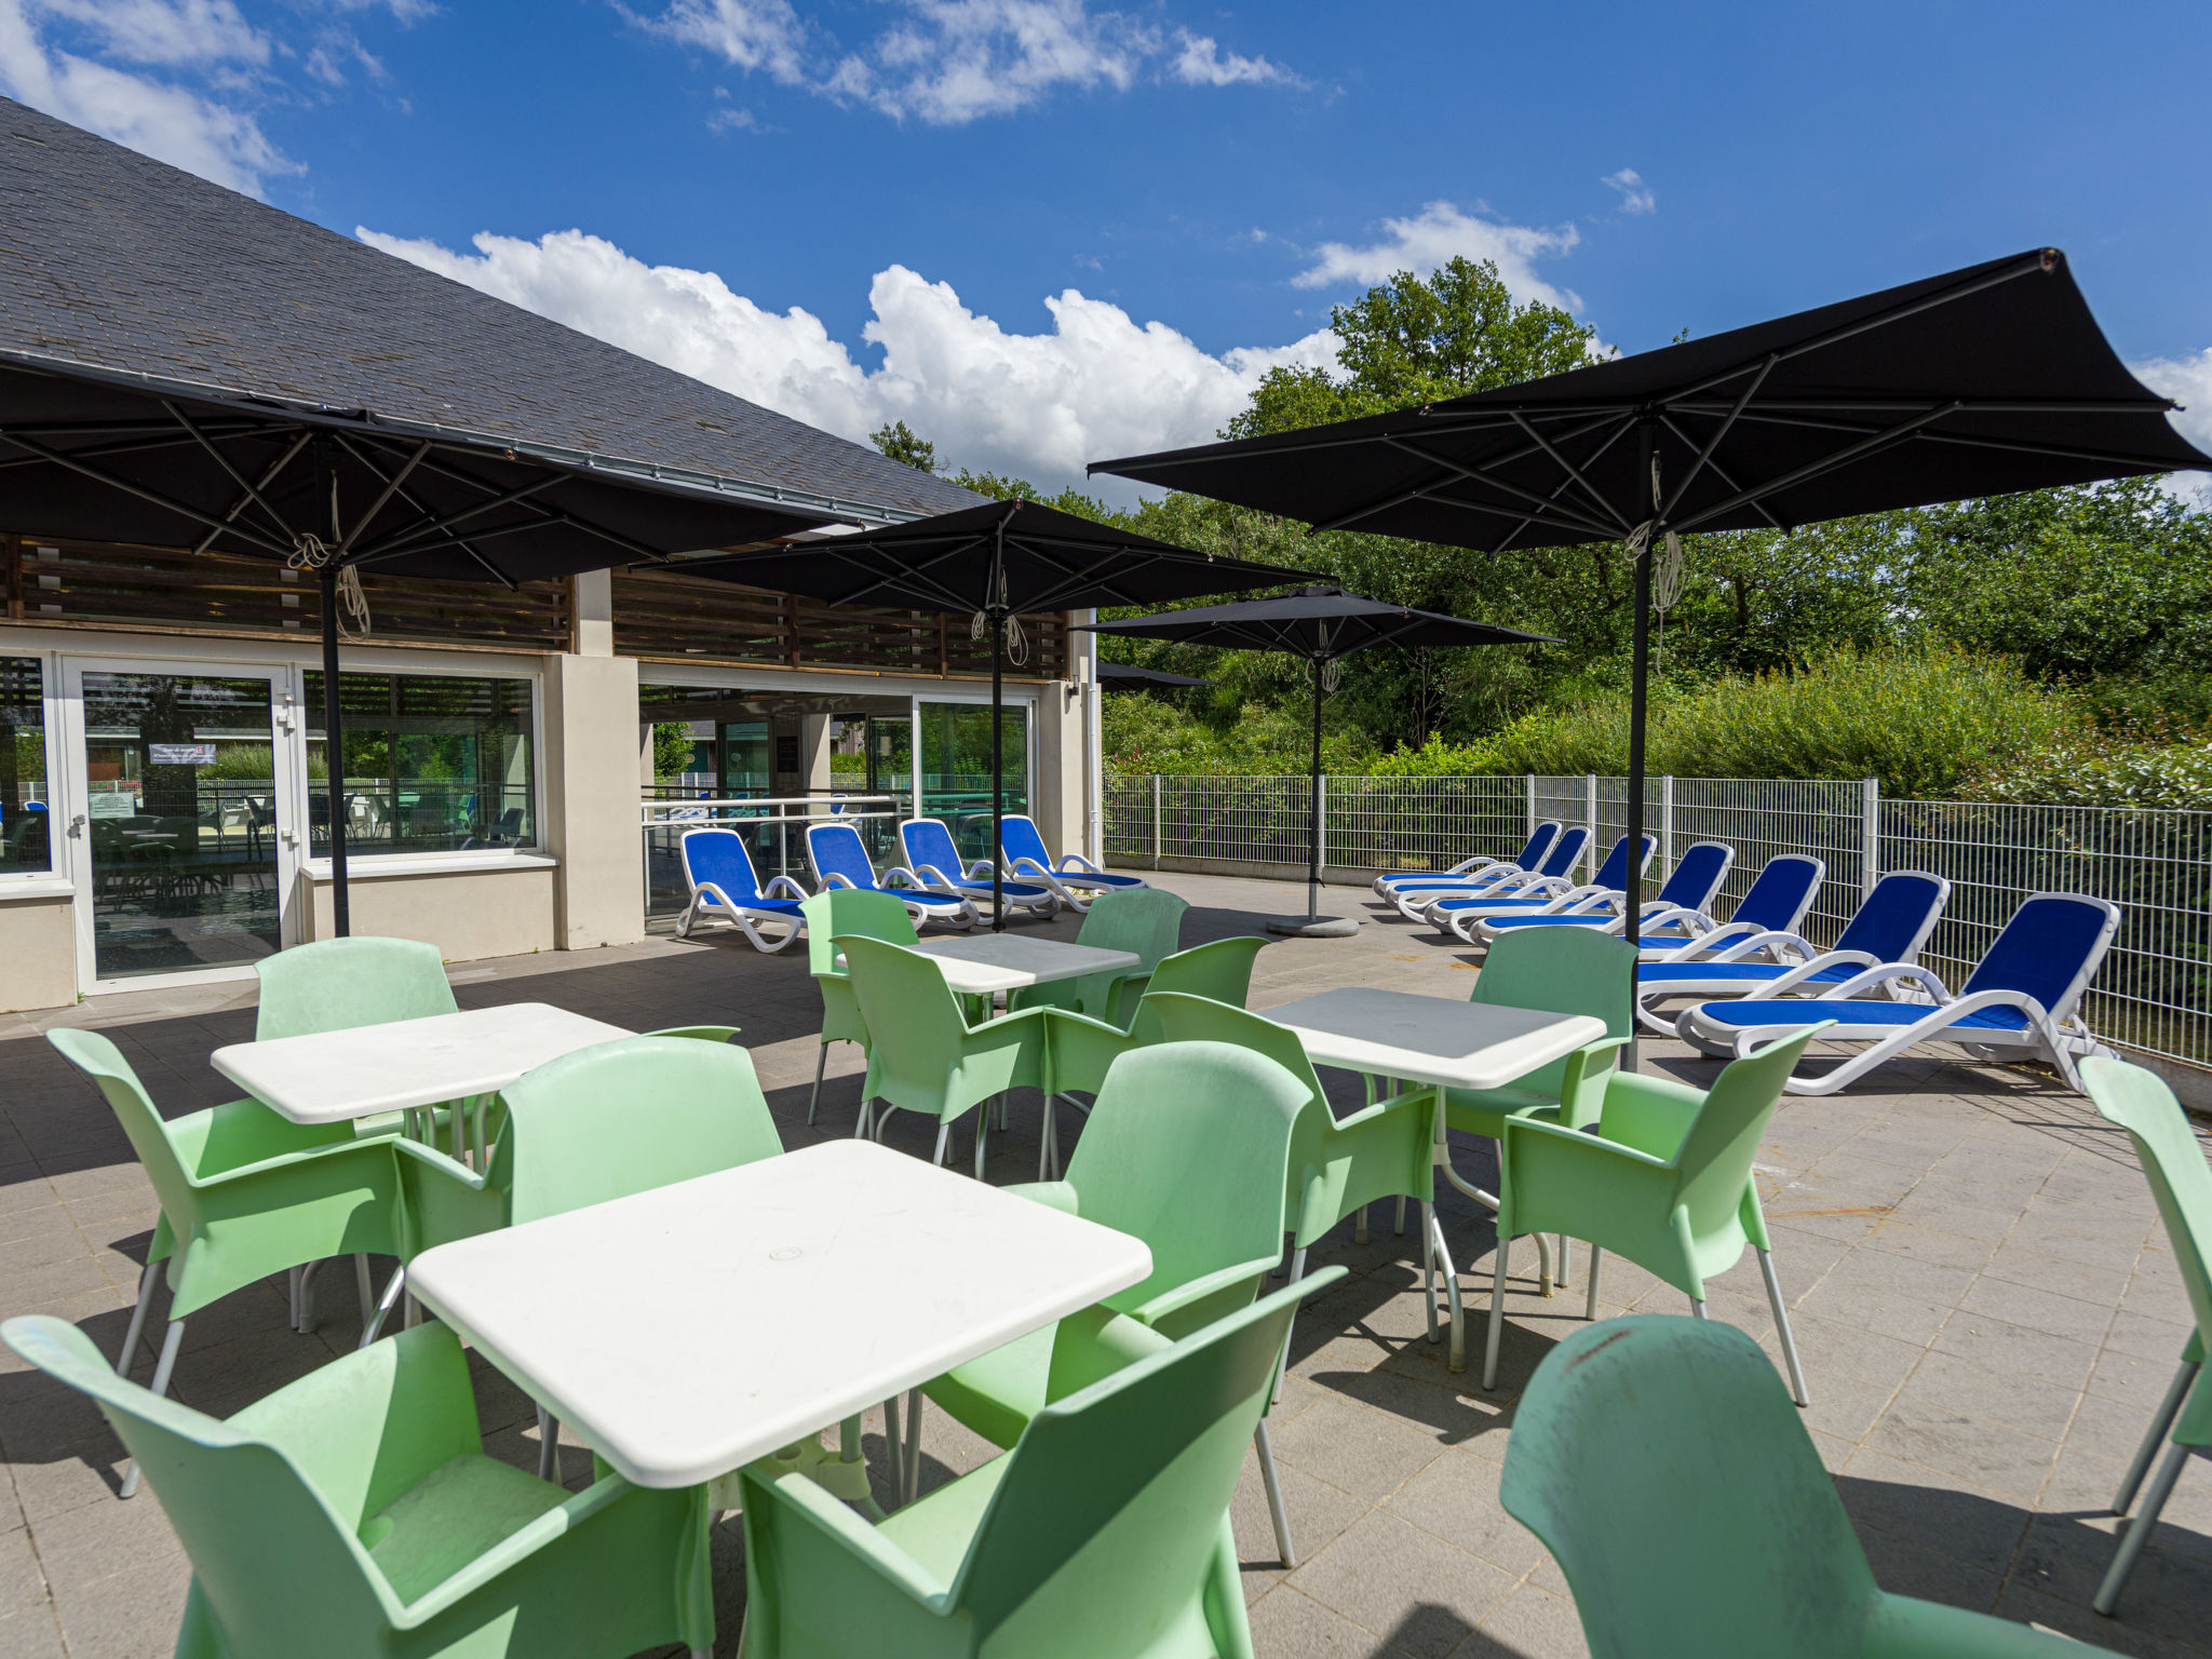
<svg viewBox="0 0 2212 1659">
<path fill-rule="evenodd" d="M 1029 661 L 1011 679 L 1064 679 L 1064 615 L 1022 617 Z M 668 661 L 779 668 L 874 668 L 891 675 L 984 675 L 991 653 L 967 617 L 832 606 L 706 577 L 615 571 L 615 650 Z"/>
</svg>

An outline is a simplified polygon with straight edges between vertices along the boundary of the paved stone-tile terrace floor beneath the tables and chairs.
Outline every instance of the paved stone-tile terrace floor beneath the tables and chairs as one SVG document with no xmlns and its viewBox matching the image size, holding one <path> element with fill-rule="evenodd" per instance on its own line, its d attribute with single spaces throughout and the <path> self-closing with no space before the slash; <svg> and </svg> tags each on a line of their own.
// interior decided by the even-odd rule
<svg viewBox="0 0 2212 1659">
<path fill-rule="evenodd" d="M 1301 889 L 1274 883 L 1168 876 L 1161 885 L 1192 902 L 1186 945 L 1254 931 L 1254 914 L 1303 909 Z M 1464 947 L 1380 920 L 1365 891 L 1332 900 L 1376 922 L 1352 940 L 1270 947 L 1254 1006 L 1336 984 L 1467 993 Z M 1020 927 L 1075 933 L 1073 918 Z M 796 951 L 763 958 L 730 936 L 653 938 L 460 964 L 453 982 L 465 1006 L 542 1000 L 633 1029 L 741 1024 L 785 1146 L 852 1130 L 858 1068 L 845 1046 L 832 1057 L 821 1124 L 805 1126 L 818 1000 Z M 195 1110 L 234 1093 L 206 1057 L 252 1035 L 252 989 L 133 993 L 0 1022 L 0 1314 L 60 1314 L 113 1354 L 155 1221 L 153 1192 L 106 1106 L 38 1037 L 46 1024 L 106 1029 L 164 1110 Z M 1712 1075 L 1710 1062 L 1663 1042 L 1646 1044 L 1644 1066 L 1690 1082 Z M 2088 1102 L 2026 1068 L 1909 1062 L 1869 1082 L 1878 1086 L 1836 1099 L 1787 1099 L 1759 1181 L 1812 1385 L 1805 1422 L 1876 1577 L 2121 1652 L 2212 1652 L 2203 1462 L 2168 1504 L 2124 1617 L 2088 1610 L 2117 1537 L 2106 1504 L 2188 1336 L 2174 1261 L 2126 1139 Z M 891 1141 L 927 1157 L 929 1128 L 911 1115 L 894 1124 Z M 993 1137 L 993 1181 L 1033 1179 L 1037 1128 L 1035 1097 L 1018 1099 L 1013 1130 Z M 1075 1133 L 1064 1121 L 1062 1135 Z M 953 1155 L 964 1168 L 964 1130 Z M 1486 1141 L 1455 1157 L 1475 1175 L 1493 1168 Z M 1458 1194 L 1444 1197 L 1442 1214 L 1480 1365 L 1493 1234 L 1486 1212 Z M 1316 1265 L 1340 1261 L 1352 1276 L 1301 1314 L 1274 1416 L 1303 1557 L 1294 1573 L 1276 1566 L 1250 1467 L 1239 1493 L 1259 1652 L 1584 1652 L 1564 1577 L 1498 1506 L 1517 1391 L 1575 1329 L 1579 1287 L 1544 1301 L 1531 1279 L 1515 1281 L 1500 1389 L 1484 1394 L 1473 1371 L 1451 1376 L 1442 1349 L 1422 1338 L 1409 1239 L 1391 1234 L 1387 1210 L 1378 1208 L 1369 1245 L 1349 1239 L 1340 1228 L 1314 1252 Z M 1526 1241 L 1515 1265 L 1533 1274 Z M 1686 1312 L 1677 1292 L 1624 1261 L 1606 1265 L 1604 1292 L 1604 1314 Z M 237 1411 L 347 1352 L 358 1329 L 352 1274 L 327 1272 L 321 1303 L 310 1336 L 288 1329 L 281 1281 L 192 1318 L 177 1396 Z M 1719 1281 L 1712 1312 L 1772 1349 L 1750 1259 Z M 478 1396 L 491 1449 L 531 1467 L 529 1402 L 482 1365 Z M 97 1413 L 0 1354 L 0 1655 L 168 1655 L 186 1559 L 153 1493 L 115 1498 L 119 1447 Z M 880 1455 L 874 1433 L 869 1455 Z M 931 1482 L 982 1455 L 987 1447 L 931 1413 Z M 582 1449 L 564 1451 L 564 1475 L 588 1478 Z M 721 1652 L 737 1641 L 741 1548 L 732 1515 L 714 1546 Z"/>
</svg>

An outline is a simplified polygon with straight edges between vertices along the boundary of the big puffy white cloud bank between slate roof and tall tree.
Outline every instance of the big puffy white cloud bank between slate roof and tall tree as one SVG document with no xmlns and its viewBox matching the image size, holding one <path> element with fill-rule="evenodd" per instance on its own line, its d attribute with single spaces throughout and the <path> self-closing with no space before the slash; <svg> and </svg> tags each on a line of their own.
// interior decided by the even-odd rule
<svg viewBox="0 0 2212 1659">
<path fill-rule="evenodd" d="M 356 234 L 845 438 L 905 420 L 949 467 L 1048 489 L 1079 484 L 1091 460 L 1206 442 L 1267 369 L 1336 358 L 1327 332 L 1214 356 L 1166 323 L 1139 323 L 1075 288 L 1044 301 L 1051 330 L 1020 334 L 962 305 L 951 283 L 889 265 L 869 283 L 874 316 L 860 336 L 883 356 L 865 367 L 807 310 L 770 312 L 714 272 L 646 265 L 582 230 L 538 241 L 487 232 L 473 252 Z M 1091 487 L 1126 498 L 1108 480 Z"/>
</svg>

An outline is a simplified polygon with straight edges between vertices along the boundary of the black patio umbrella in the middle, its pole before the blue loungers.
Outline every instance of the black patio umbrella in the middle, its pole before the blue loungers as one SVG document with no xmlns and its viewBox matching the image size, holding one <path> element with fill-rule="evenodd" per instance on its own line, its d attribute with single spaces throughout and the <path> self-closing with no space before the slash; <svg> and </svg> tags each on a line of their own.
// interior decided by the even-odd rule
<svg viewBox="0 0 2212 1659">
<path fill-rule="evenodd" d="M 1276 564 L 1192 553 L 1186 546 L 1022 500 L 984 502 L 860 535 L 825 535 L 684 560 L 684 573 L 805 593 L 830 604 L 969 613 L 975 630 L 989 633 L 991 931 L 1006 927 L 998 832 L 1006 787 L 1000 681 L 1009 619 L 1040 611 L 1164 604 L 1203 593 L 1270 588 L 1307 575 Z"/>
</svg>

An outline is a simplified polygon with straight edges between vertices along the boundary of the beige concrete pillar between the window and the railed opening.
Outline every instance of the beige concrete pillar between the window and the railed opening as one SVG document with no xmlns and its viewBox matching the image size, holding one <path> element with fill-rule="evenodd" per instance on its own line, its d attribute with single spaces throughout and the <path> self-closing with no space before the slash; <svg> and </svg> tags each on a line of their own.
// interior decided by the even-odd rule
<svg viewBox="0 0 2212 1659">
<path fill-rule="evenodd" d="M 628 945 L 646 936 L 637 661 L 564 653 L 546 657 L 544 684 L 544 845 L 560 858 L 553 945 Z"/>
</svg>

